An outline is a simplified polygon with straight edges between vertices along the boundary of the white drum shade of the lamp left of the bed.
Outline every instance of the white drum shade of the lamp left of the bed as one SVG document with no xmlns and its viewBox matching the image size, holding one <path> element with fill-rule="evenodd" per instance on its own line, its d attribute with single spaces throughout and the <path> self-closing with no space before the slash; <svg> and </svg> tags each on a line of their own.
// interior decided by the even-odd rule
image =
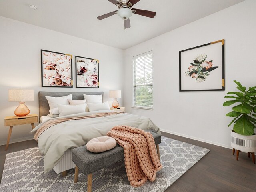
<svg viewBox="0 0 256 192">
<path fill-rule="evenodd" d="M 9 101 L 34 101 L 34 90 L 9 89 Z"/>
</svg>

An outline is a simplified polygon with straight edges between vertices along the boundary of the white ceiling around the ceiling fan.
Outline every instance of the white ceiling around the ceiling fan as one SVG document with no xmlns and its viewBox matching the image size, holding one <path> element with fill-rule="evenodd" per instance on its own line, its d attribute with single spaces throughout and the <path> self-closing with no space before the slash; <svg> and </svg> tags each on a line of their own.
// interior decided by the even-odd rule
<svg viewBox="0 0 256 192">
<path fill-rule="evenodd" d="M 0 16 L 127 49 L 242 1 L 140 0 L 133 8 L 154 11 L 156 16 L 133 14 L 126 30 L 118 15 L 96 18 L 118 9 L 108 0 L 0 0 Z M 30 4 L 38 9 L 30 9 Z"/>
</svg>

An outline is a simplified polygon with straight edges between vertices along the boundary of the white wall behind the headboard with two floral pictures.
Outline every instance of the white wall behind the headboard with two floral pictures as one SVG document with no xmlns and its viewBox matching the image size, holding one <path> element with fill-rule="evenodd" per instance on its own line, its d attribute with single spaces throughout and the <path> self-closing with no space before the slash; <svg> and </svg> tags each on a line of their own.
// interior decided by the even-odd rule
<svg viewBox="0 0 256 192">
<path fill-rule="evenodd" d="M 72 54 L 73 58 L 77 55 L 98 59 L 100 88 L 75 88 L 74 59 L 73 88 L 41 87 L 41 49 Z M 18 102 L 8 102 L 8 89 L 34 89 L 34 101 L 26 102 L 30 114 L 38 114 L 38 91 L 104 91 L 104 101 L 111 104 L 108 91 L 122 90 L 123 53 L 117 48 L 0 17 L 0 145 L 6 144 L 9 130 L 4 127 L 4 117 L 14 116 L 18 106 Z M 118 101 L 122 106 L 122 100 Z M 30 125 L 14 126 L 10 143 L 31 139 L 30 130 Z"/>
</svg>

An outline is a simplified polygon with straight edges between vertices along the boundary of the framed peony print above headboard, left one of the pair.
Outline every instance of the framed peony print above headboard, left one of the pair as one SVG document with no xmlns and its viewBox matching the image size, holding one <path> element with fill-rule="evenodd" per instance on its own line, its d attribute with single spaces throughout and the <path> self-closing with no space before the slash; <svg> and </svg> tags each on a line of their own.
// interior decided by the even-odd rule
<svg viewBox="0 0 256 192">
<path fill-rule="evenodd" d="M 42 87 L 73 87 L 72 55 L 41 50 Z"/>
</svg>

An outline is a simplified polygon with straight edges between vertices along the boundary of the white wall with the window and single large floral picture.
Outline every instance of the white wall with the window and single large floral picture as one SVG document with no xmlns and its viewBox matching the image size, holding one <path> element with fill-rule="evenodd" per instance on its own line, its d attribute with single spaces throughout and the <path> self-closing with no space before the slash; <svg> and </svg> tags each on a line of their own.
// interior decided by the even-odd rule
<svg viewBox="0 0 256 192">
<path fill-rule="evenodd" d="M 256 86 L 256 1 L 246 0 L 220 12 L 138 44 L 124 52 L 124 106 L 150 117 L 162 131 L 230 147 L 223 97 L 233 80 Z M 225 91 L 179 92 L 179 51 L 225 39 Z M 132 106 L 132 56 L 153 50 L 154 110 Z"/>
</svg>

